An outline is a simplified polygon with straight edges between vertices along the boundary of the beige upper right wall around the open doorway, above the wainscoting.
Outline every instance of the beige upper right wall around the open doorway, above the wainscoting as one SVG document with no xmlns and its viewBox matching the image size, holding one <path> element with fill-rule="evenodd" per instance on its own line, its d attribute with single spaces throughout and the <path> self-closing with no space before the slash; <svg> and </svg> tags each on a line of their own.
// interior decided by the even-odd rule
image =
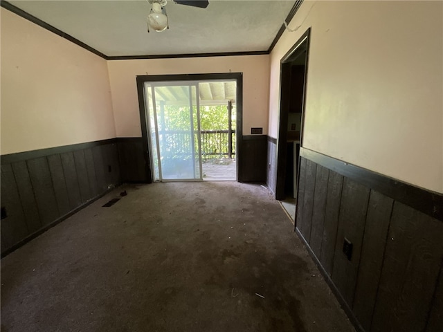
<svg viewBox="0 0 443 332">
<path fill-rule="evenodd" d="M 304 146 L 443 192 L 443 3 L 305 1 L 271 53 L 269 134 L 280 59 L 311 27 Z"/>
</svg>

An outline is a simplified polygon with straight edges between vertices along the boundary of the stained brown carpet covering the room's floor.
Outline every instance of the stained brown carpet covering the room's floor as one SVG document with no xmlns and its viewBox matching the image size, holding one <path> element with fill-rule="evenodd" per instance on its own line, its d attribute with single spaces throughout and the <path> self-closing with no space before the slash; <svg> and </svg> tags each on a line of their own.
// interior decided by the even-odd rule
<svg viewBox="0 0 443 332">
<path fill-rule="evenodd" d="M 200 182 L 123 185 L 4 257 L 1 331 L 354 328 L 266 188 Z"/>
</svg>

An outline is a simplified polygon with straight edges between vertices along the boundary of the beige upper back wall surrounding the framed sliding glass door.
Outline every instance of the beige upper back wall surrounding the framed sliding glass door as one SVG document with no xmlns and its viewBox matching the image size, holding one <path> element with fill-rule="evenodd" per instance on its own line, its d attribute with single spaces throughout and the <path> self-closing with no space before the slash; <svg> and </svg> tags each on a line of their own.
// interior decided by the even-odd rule
<svg viewBox="0 0 443 332">
<path fill-rule="evenodd" d="M 243 133 L 268 127 L 269 55 L 114 60 L 108 62 L 118 137 L 141 136 L 136 76 L 190 73 L 243 73 Z"/>
</svg>

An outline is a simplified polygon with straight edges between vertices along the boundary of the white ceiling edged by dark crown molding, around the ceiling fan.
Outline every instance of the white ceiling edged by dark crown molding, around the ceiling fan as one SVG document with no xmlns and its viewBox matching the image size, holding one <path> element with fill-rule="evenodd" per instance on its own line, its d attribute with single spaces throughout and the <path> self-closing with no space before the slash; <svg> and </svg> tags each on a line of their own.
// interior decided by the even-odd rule
<svg viewBox="0 0 443 332">
<path fill-rule="evenodd" d="M 147 33 L 147 0 L 9 2 L 107 56 L 268 50 L 295 3 L 209 0 L 202 9 L 168 0 L 169 30 Z"/>
</svg>

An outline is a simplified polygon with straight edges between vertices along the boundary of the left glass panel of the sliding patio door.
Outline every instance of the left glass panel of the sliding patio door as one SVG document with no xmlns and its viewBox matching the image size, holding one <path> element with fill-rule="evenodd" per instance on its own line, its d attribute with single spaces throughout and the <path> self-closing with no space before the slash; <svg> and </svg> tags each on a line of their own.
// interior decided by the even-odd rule
<svg viewBox="0 0 443 332">
<path fill-rule="evenodd" d="M 145 83 L 154 181 L 200 181 L 198 84 Z"/>
</svg>

